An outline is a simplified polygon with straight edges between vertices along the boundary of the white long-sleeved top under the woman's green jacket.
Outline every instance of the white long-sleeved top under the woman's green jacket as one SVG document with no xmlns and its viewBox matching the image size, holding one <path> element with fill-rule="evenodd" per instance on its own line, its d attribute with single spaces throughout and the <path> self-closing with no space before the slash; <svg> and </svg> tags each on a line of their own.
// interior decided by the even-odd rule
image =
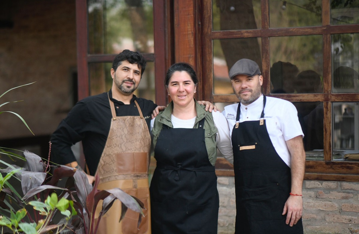
<svg viewBox="0 0 359 234">
<path fill-rule="evenodd" d="M 225 120 L 222 113 L 219 111 L 212 111 L 214 125 L 216 126 L 218 132 L 216 133 L 216 143 L 217 148 L 223 154 L 223 157 L 228 160 L 228 162 L 233 163 L 233 149 L 232 142 L 229 135 L 229 128 L 227 121 Z M 195 125 L 196 117 L 193 119 L 182 120 L 171 115 L 171 122 L 173 128 L 193 128 Z M 151 131 L 153 128 L 154 119 L 151 120 Z"/>
</svg>

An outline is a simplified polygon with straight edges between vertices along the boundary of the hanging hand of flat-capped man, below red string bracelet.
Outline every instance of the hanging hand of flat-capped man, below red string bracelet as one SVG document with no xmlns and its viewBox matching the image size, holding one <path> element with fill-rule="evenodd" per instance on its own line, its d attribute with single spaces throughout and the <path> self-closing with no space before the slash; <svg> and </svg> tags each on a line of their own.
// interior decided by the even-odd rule
<svg viewBox="0 0 359 234">
<path fill-rule="evenodd" d="M 293 226 L 298 223 L 300 217 L 302 217 L 303 211 L 303 200 L 302 196 L 289 196 L 288 200 L 284 204 L 284 209 L 282 215 L 287 214 L 285 220 L 286 224 Z"/>
</svg>

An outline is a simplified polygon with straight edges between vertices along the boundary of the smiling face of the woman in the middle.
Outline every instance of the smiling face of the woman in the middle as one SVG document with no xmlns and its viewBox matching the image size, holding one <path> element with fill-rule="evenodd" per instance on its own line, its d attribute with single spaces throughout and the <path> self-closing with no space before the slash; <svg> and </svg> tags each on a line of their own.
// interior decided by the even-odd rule
<svg viewBox="0 0 359 234">
<path fill-rule="evenodd" d="M 185 71 L 176 71 L 169 79 L 167 91 L 174 105 L 185 107 L 194 101 L 196 85 Z"/>
</svg>

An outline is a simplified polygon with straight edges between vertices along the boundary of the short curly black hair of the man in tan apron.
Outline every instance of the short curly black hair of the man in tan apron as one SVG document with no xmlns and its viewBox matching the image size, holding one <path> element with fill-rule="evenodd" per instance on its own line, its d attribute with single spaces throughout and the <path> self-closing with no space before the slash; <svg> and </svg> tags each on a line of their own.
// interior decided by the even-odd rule
<svg viewBox="0 0 359 234">
<path fill-rule="evenodd" d="M 129 49 L 124 49 L 121 53 L 117 54 L 115 59 L 113 59 L 112 68 L 117 70 L 117 67 L 121 65 L 122 61 L 127 61 L 131 64 L 137 64 L 141 69 L 141 76 L 146 68 L 146 60 L 142 54 L 138 51 L 130 51 Z"/>
</svg>

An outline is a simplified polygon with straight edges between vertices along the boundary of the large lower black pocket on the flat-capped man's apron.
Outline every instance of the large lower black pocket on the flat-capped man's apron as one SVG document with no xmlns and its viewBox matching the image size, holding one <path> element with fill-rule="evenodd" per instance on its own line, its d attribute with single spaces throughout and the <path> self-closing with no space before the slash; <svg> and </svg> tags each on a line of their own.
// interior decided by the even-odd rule
<svg viewBox="0 0 359 234">
<path fill-rule="evenodd" d="M 282 219 L 285 201 L 280 195 L 280 186 L 272 183 L 264 186 L 237 187 L 239 206 L 248 220 Z"/>
</svg>

